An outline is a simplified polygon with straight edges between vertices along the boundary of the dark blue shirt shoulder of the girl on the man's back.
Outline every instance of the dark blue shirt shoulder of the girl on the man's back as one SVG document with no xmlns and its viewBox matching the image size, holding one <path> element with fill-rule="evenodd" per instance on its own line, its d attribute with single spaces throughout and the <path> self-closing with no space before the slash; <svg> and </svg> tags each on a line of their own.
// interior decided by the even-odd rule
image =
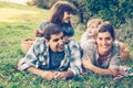
<svg viewBox="0 0 133 88">
<path fill-rule="evenodd" d="M 63 36 L 73 36 L 74 35 L 74 29 L 69 23 L 62 23 L 61 25 Z"/>
</svg>

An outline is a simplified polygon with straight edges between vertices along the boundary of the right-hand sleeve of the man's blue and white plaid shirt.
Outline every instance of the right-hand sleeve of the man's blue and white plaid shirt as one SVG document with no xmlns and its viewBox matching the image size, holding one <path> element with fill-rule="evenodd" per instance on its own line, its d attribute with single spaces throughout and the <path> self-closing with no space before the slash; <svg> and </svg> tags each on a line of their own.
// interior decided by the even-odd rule
<svg viewBox="0 0 133 88">
<path fill-rule="evenodd" d="M 69 44 L 71 44 L 69 45 L 69 50 L 71 52 L 69 69 L 73 72 L 74 76 L 76 76 L 82 73 L 80 48 L 78 46 L 79 44 L 74 41 L 71 41 Z"/>
</svg>

